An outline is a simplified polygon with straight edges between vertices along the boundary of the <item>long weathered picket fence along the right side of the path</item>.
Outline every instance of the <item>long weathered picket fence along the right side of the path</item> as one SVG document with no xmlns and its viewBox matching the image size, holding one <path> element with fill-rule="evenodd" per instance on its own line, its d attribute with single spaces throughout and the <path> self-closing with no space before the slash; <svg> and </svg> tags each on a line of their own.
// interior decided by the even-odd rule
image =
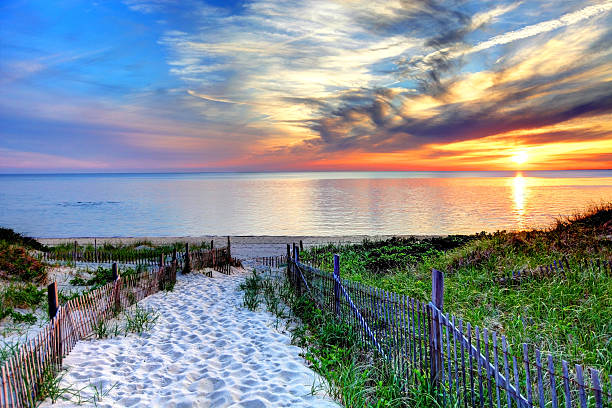
<svg viewBox="0 0 612 408">
<path fill-rule="evenodd" d="M 432 272 L 432 301 L 422 302 L 301 263 L 287 246 L 288 278 L 298 293 L 358 329 L 360 340 L 391 362 L 406 386 L 430 381 L 442 406 L 603 408 L 612 406 L 612 375 L 559 365 L 526 343 L 512 350 L 503 335 L 443 312 L 443 274 Z"/>
</svg>

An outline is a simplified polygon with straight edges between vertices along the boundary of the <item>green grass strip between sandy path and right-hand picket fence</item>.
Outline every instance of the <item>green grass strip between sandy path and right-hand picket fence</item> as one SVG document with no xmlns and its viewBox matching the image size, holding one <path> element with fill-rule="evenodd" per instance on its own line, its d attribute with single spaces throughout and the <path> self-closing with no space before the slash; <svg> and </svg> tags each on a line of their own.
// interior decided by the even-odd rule
<svg viewBox="0 0 612 408">
<path fill-rule="evenodd" d="M 245 307 L 256 310 L 263 304 L 277 317 L 277 325 L 280 320 L 288 322 L 293 343 L 305 350 L 305 359 L 325 379 L 325 391 L 344 406 L 441 405 L 426 376 L 421 375 L 418 386 L 406 387 L 405 379 L 361 344 L 352 326 L 318 309 L 309 298 L 297 296 L 284 278 L 253 271 L 240 288 Z"/>
</svg>

